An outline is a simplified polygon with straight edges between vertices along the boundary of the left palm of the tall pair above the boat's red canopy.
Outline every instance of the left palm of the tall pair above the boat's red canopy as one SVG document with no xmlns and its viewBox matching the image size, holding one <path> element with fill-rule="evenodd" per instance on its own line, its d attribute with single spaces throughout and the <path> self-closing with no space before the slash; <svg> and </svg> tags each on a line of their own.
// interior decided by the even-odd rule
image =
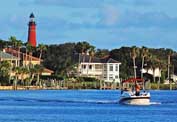
<svg viewBox="0 0 177 122">
<path fill-rule="evenodd" d="M 136 57 L 138 56 L 138 48 L 137 47 L 132 47 L 132 50 L 130 52 L 130 56 L 133 60 L 133 69 L 134 69 L 134 77 L 136 78 Z"/>
</svg>

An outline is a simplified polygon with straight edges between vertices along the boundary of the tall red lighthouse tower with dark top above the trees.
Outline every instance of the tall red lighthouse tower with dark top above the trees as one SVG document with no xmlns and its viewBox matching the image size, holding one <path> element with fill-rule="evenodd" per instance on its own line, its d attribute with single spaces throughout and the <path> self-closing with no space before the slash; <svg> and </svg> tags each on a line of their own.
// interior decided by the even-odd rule
<svg viewBox="0 0 177 122">
<path fill-rule="evenodd" d="M 36 23 L 34 21 L 34 14 L 30 14 L 30 21 L 28 24 L 28 43 L 36 47 Z"/>
</svg>

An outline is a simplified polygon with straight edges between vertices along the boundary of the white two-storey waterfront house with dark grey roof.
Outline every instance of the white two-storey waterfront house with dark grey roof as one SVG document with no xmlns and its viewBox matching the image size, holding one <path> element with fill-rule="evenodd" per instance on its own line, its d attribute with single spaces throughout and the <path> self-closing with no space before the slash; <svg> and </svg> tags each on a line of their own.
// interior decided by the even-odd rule
<svg viewBox="0 0 177 122">
<path fill-rule="evenodd" d="M 79 75 L 95 77 L 105 82 L 120 82 L 120 62 L 109 56 L 104 58 L 82 55 L 79 58 Z"/>
</svg>

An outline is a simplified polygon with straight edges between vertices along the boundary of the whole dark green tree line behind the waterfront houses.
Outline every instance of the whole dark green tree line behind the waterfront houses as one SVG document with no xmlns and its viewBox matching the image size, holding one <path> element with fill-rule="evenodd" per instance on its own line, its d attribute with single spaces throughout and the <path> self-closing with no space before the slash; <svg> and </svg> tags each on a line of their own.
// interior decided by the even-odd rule
<svg viewBox="0 0 177 122">
<path fill-rule="evenodd" d="M 177 74 L 177 55 L 172 49 L 165 48 L 148 48 L 148 47 L 121 47 L 112 50 L 97 49 L 95 46 L 86 41 L 76 43 L 39 44 L 38 48 L 28 47 L 26 43 L 13 43 L 13 38 L 9 41 L 0 40 L 0 49 L 8 46 L 17 47 L 18 50 L 28 52 L 29 54 L 43 59 L 44 67 L 54 71 L 55 75 L 69 77 L 68 72 L 75 69 L 78 60 L 75 60 L 76 54 L 85 55 L 86 53 L 92 57 L 102 58 L 109 55 L 121 62 L 120 77 L 126 79 L 128 77 L 144 77 L 141 73 L 143 68 L 160 68 L 162 71 L 161 80 L 170 79 L 170 74 Z M 20 44 L 21 43 L 21 44 Z M 14 44 L 14 45 L 13 45 Z M 23 48 L 26 45 L 26 48 Z M 40 48 L 39 48 L 40 47 Z M 28 51 L 25 51 L 28 50 Z M 152 81 L 156 81 L 156 77 L 150 77 Z"/>
</svg>

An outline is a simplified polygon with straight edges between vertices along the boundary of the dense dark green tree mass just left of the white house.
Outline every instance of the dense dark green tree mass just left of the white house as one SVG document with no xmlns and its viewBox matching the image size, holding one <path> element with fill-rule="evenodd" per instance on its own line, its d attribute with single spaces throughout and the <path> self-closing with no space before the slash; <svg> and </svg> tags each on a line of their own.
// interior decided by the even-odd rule
<svg viewBox="0 0 177 122">
<path fill-rule="evenodd" d="M 59 74 L 67 67 L 74 64 L 72 60 L 75 43 L 65 43 L 60 45 L 49 45 L 44 54 L 44 66 Z"/>
</svg>

